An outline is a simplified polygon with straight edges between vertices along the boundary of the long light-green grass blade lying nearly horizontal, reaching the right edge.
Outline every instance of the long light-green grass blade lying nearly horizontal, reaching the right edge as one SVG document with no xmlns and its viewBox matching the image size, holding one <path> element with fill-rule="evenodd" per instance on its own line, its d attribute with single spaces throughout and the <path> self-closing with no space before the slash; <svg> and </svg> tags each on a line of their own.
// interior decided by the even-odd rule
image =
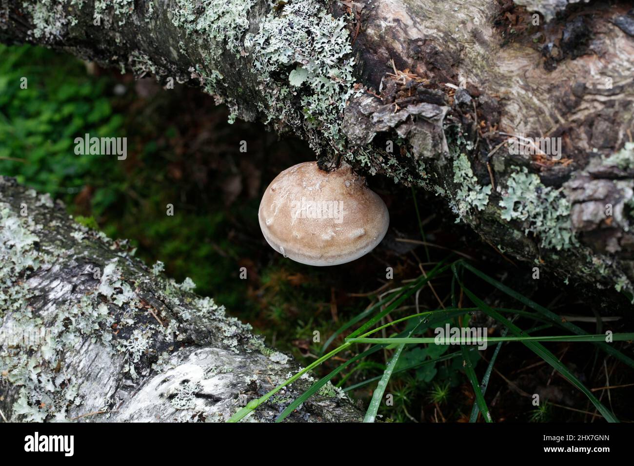
<svg viewBox="0 0 634 466">
<path fill-rule="evenodd" d="M 465 290 L 466 293 L 466 290 Z M 493 309 L 491 309 L 493 311 Z M 496 311 L 493 311 L 494 313 Z M 497 313 L 496 313 L 497 314 Z M 501 318 L 501 314 L 498 314 Z M 504 321 L 507 319 L 503 318 Z M 516 327 L 517 328 L 517 327 Z M 522 330 L 519 332 L 525 333 Z M 445 337 L 441 341 L 436 340 L 436 337 L 406 337 L 406 338 L 347 338 L 346 343 L 376 343 L 376 344 L 414 344 L 414 343 L 437 343 L 439 345 L 448 345 L 450 343 L 450 337 Z M 597 342 L 604 341 L 605 335 L 544 335 L 538 337 L 530 337 L 527 335 L 515 335 L 514 337 L 486 337 L 482 340 L 477 339 L 465 339 L 462 343 L 467 345 L 475 345 L 480 343 L 496 343 L 505 341 L 519 341 L 522 343 L 530 342 Z M 634 333 L 612 333 L 613 341 L 629 341 L 634 340 Z"/>
</svg>

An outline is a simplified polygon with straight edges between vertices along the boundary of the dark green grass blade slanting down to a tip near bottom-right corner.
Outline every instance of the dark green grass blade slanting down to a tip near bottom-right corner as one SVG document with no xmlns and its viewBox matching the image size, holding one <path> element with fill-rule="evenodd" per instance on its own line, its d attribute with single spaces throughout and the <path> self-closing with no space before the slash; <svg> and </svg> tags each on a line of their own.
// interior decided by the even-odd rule
<svg viewBox="0 0 634 466">
<path fill-rule="evenodd" d="M 491 307 L 488 304 L 486 304 L 486 302 L 482 301 L 477 296 L 475 296 L 472 292 L 469 291 L 469 289 L 465 288 L 464 285 L 462 285 L 462 283 L 460 283 L 460 286 L 462 287 L 465 294 L 467 294 L 469 299 L 476 306 L 480 307 L 483 313 L 488 314 L 488 316 L 491 316 L 498 322 L 502 323 L 503 325 L 506 325 L 508 327 L 508 330 L 514 335 L 519 336 L 522 333 L 521 328 L 516 327 L 512 322 L 505 319 L 500 313 L 497 313 L 496 311 L 491 309 Z M 579 336 L 579 335 L 576 335 L 576 336 Z M 585 335 L 581 335 L 581 336 L 585 336 Z M 570 372 L 570 370 L 561 361 L 559 361 L 559 359 L 557 359 L 557 357 L 554 354 L 550 353 L 550 351 L 548 351 L 546 347 L 534 341 L 522 341 L 522 343 L 524 343 L 527 347 L 529 347 L 529 349 L 531 349 L 533 353 L 537 354 L 538 356 L 540 356 L 540 358 L 542 358 L 548 364 L 553 366 L 553 368 L 555 368 L 557 372 L 559 372 L 563 377 L 565 377 L 569 382 L 571 382 L 571 384 L 573 384 L 575 387 L 581 390 L 585 394 L 585 396 L 587 396 L 588 399 L 590 399 L 592 404 L 595 405 L 597 410 L 602 414 L 602 416 L 605 418 L 605 420 L 607 420 L 607 422 L 619 422 L 619 420 L 614 416 L 614 414 L 611 411 L 609 411 L 607 408 L 605 408 L 605 406 L 602 405 L 600 401 L 598 401 L 597 397 L 595 397 L 592 394 L 592 392 L 590 392 L 590 390 L 588 390 L 588 388 L 585 385 L 583 385 L 581 381 L 577 379 L 577 377 L 575 377 L 574 374 Z"/>
</svg>

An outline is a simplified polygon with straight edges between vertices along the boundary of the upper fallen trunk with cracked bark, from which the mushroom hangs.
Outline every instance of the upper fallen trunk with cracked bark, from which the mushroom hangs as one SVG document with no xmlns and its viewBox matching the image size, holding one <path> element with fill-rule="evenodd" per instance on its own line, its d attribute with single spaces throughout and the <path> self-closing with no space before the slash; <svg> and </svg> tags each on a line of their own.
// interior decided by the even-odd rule
<svg viewBox="0 0 634 466">
<path fill-rule="evenodd" d="M 8 0 L 0 40 L 46 44 L 162 82 L 174 77 L 202 85 L 238 117 L 307 139 L 321 166 L 343 155 L 359 171 L 434 190 L 484 240 L 529 262 L 524 266 L 552 271 L 592 295 L 603 312 L 629 308 L 619 292 L 634 291 L 634 146 L 626 146 L 634 131 L 630 4 L 188 4 L 184 15 L 179 0 L 117 0 L 95 26 L 93 1 L 80 7 L 60 0 L 55 11 L 48 2 L 41 7 L 53 23 L 47 29 L 34 20 L 32 3 Z M 534 12 L 538 26 L 531 25 Z M 328 15 L 345 18 L 353 44 L 332 59 L 333 67 L 344 67 L 354 58 L 356 81 L 333 118 L 310 113 L 304 98 L 320 98 L 314 87 L 288 85 L 295 67 L 309 66 L 306 56 L 329 58 L 332 44 L 317 48 L 313 32 L 306 49 L 314 55 L 295 47 L 274 63 L 266 53 L 271 37 L 264 48 L 247 40 L 280 18 L 287 20 L 275 23 L 281 37 L 301 34 L 300 20 L 310 15 L 316 24 Z M 233 32 L 226 29 L 231 25 Z M 323 77 L 339 91 L 348 85 L 334 74 Z M 512 135 L 561 138 L 562 158 L 514 155 L 505 145 Z M 386 150 L 387 141 L 394 151 Z M 456 168 L 460 154 L 466 171 Z"/>
</svg>

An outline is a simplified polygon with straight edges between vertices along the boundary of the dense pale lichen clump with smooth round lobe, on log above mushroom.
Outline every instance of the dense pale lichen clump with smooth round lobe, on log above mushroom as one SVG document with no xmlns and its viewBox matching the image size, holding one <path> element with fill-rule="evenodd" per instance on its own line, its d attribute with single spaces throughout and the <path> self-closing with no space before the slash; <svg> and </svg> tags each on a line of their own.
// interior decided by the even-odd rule
<svg viewBox="0 0 634 466">
<path fill-rule="evenodd" d="M 252 67 L 265 93 L 259 110 L 281 126 L 298 115 L 292 100 L 301 100 L 303 118 L 332 141 L 342 139 L 340 115 L 354 89 L 352 47 L 345 18 L 333 18 L 323 4 L 297 0 L 272 8 L 259 30 L 245 37 Z M 278 75 L 283 76 L 280 81 Z"/>
</svg>

